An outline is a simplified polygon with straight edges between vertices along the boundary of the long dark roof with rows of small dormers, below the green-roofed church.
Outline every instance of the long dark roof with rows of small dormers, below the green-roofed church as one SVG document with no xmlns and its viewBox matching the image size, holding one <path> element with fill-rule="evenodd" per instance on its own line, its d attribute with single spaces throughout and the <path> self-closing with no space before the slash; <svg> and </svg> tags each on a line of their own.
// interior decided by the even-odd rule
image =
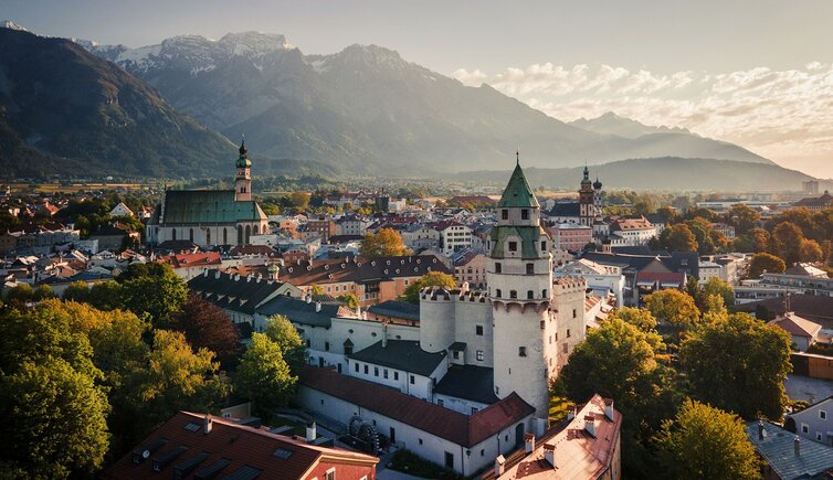
<svg viewBox="0 0 833 480">
<path fill-rule="evenodd" d="M 215 271 L 209 271 L 208 275 L 191 278 L 188 288 L 217 307 L 254 314 L 255 307 L 284 285 L 263 279 L 257 281 L 252 277 L 234 278 L 229 274 L 220 274 L 218 277 Z"/>
</svg>

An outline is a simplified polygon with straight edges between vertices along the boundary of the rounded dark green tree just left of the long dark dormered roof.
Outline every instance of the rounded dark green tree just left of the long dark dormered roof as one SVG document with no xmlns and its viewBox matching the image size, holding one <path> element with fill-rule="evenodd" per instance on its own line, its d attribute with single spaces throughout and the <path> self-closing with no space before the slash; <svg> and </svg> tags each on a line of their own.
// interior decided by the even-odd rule
<svg viewBox="0 0 833 480">
<path fill-rule="evenodd" d="M 122 282 L 122 301 L 134 313 L 150 316 L 154 327 L 167 328 L 171 317 L 188 301 L 188 286 L 168 265 L 143 266 L 144 269 L 122 274 L 127 276 Z"/>
</svg>

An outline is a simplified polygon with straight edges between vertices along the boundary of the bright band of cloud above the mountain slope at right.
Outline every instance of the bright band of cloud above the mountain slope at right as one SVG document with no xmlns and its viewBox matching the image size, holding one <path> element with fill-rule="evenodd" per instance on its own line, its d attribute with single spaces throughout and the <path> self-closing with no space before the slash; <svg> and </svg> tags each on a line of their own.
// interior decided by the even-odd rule
<svg viewBox="0 0 833 480">
<path fill-rule="evenodd" d="M 487 83 L 560 120 L 607 111 L 646 125 L 687 128 L 739 143 L 782 164 L 830 164 L 833 177 L 833 64 L 793 70 L 656 74 L 620 66 L 552 63 L 487 74 L 461 68 L 466 85 Z M 808 163 L 809 162 L 809 163 Z"/>
</svg>

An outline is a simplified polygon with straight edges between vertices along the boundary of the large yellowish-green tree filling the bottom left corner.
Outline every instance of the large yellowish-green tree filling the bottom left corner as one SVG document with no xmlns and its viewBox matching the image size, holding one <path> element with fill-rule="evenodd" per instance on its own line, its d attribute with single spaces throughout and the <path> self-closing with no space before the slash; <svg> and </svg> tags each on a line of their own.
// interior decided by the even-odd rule
<svg viewBox="0 0 833 480">
<path fill-rule="evenodd" d="M 92 476 L 109 445 L 107 397 L 59 358 L 0 373 L 0 463 L 25 478 Z"/>
</svg>

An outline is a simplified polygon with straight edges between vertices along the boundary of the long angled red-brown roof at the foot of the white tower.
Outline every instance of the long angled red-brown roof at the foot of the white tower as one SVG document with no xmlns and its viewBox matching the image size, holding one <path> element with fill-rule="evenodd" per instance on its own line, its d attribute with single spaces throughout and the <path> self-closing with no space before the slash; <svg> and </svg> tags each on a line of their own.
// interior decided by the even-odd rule
<svg viewBox="0 0 833 480">
<path fill-rule="evenodd" d="M 472 447 L 531 415 L 535 408 L 516 393 L 472 416 L 389 388 L 336 373 L 308 367 L 302 385 L 370 409 L 420 430 Z"/>
</svg>

